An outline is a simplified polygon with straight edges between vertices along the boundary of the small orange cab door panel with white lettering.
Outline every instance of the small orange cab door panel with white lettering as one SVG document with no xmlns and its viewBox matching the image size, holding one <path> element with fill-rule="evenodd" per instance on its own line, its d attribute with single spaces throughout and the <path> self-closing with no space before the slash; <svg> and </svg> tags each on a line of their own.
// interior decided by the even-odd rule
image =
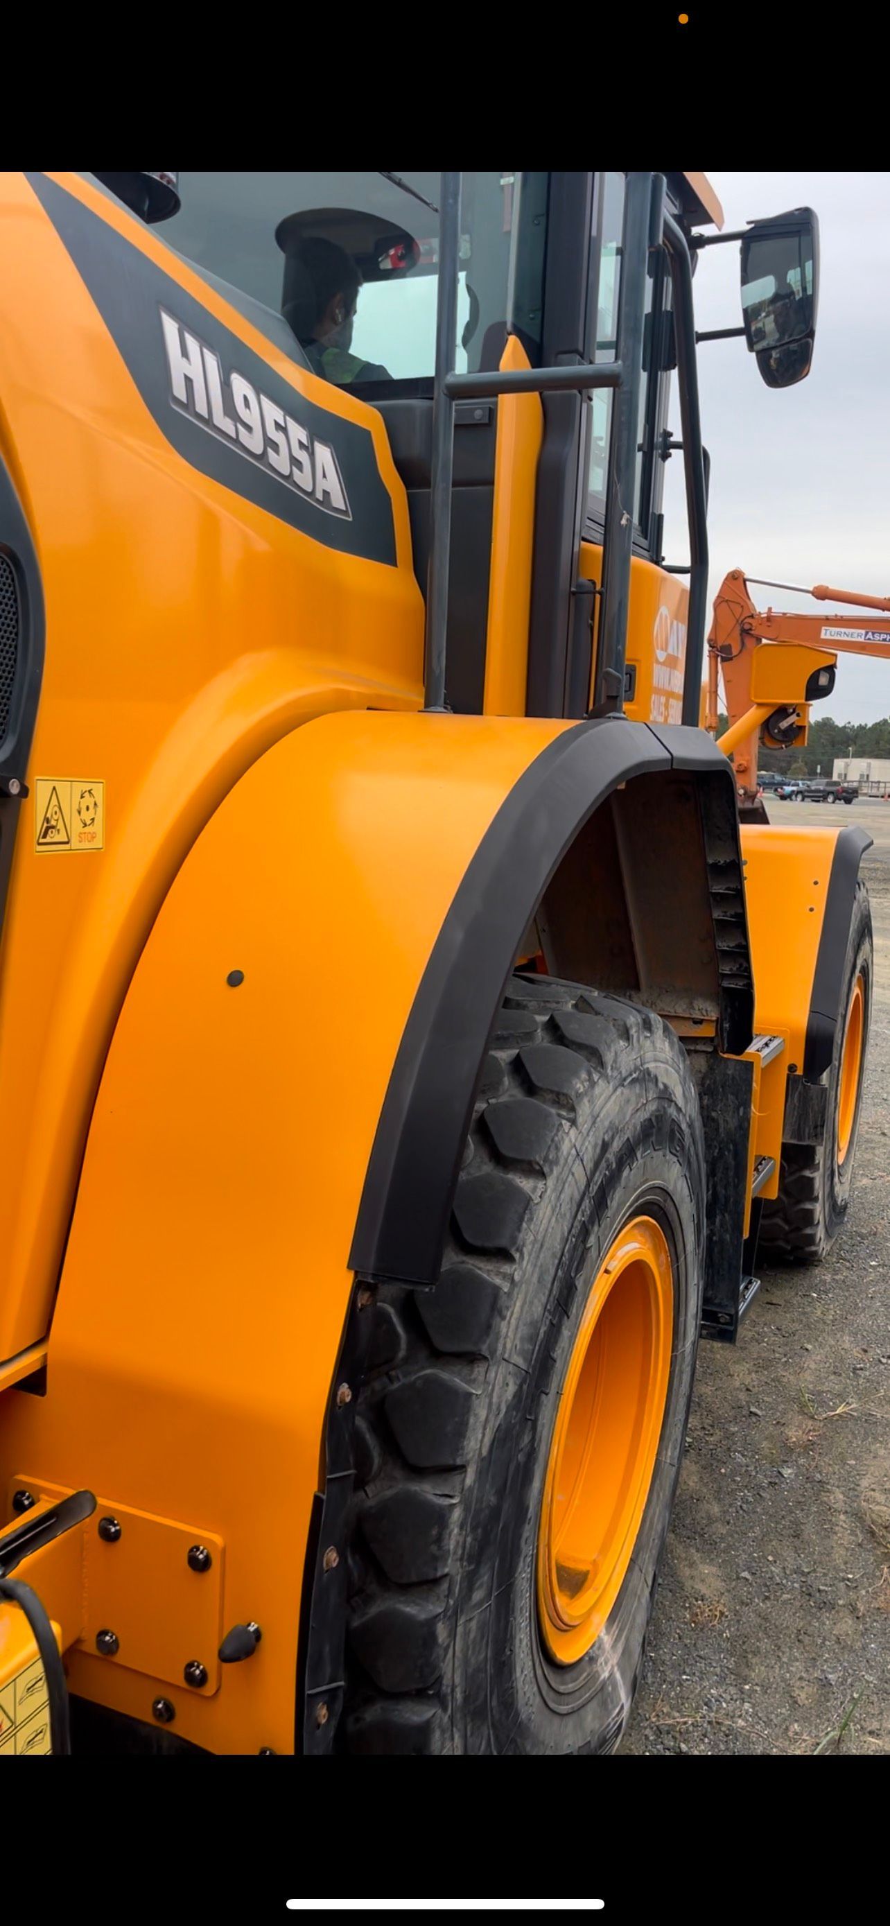
<svg viewBox="0 0 890 1926">
<path fill-rule="evenodd" d="M 603 549 L 591 541 L 582 541 L 580 574 L 597 586 L 603 578 Z M 624 699 L 632 722 L 682 722 L 688 607 L 680 576 L 634 555 Z"/>
</svg>

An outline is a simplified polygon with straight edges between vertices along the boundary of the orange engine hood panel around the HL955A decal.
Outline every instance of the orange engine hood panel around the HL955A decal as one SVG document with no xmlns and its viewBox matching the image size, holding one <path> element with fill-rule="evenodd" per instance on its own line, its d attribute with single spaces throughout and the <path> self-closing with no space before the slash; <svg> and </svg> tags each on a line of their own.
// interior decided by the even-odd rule
<svg viewBox="0 0 890 1926">
<path fill-rule="evenodd" d="M 424 628 L 406 497 L 376 410 L 289 360 L 79 175 L 33 179 L 44 206 L 25 175 L 4 179 L 0 285 L 0 453 L 46 601 L 0 955 L 0 1088 L 15 1119 L 0 1169 L 0 1375 L 46 1335 L 102 1059 L 183 857 L 241 772 L 301 720 L 418 707 Z M 287 383 L 297 414 L 322 408 L 333 439 L 339 426 L 362 433 L 391 516 L 385 562 L 331 545 L 345 535 L 324 512 L 314 534 L 293 526 L 283 487 L 285 514 L 277 497 L 262 507 L 183 458 L 87 285 L 96 247 L 119 248 L 123 277 L 162 268 L 171 302 L 200 302 L 206 329 L 222 325 L 270 387 Z M 156 306 L 150 320 L 160 329 Z M 291 847 L 297 836 L 291 819 Z"/>
</svg>

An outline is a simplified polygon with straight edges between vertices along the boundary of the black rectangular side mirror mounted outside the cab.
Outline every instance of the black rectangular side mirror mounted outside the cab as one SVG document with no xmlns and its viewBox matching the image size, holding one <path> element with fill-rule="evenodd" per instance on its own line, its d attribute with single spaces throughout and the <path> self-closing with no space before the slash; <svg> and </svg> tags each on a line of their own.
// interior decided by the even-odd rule
<svg viewBox="0 0 890 1926">
<path fill-rule="evenodd" d="M 794 387 L 813 362 L 819 220 L 792 208 L 751 221 L 742 239 L 742 320 L 767 387 Z"/>
</svg>

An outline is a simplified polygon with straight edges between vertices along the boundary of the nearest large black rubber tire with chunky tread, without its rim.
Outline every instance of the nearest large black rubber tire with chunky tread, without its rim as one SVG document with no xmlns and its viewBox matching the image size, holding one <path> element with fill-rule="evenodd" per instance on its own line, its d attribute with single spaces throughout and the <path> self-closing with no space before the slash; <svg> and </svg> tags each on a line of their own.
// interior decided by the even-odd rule
<svg viewBox="0 0 890 1926">
<path fill-rule="evenodd" d="M 536 1604 L 541 1491 L 589 1281 L 641 1213 L 672 1260 L 649 1498 L 615 1608 L 559 1666 Z M 705 1159 L 682 1044 L 649 1011 L 514 976 L 433 1290 L 383 1287 L 358 1398 L 347 1745 L 607 1753 L 624 1730 L 686 1437 Z"/>
</svg>

